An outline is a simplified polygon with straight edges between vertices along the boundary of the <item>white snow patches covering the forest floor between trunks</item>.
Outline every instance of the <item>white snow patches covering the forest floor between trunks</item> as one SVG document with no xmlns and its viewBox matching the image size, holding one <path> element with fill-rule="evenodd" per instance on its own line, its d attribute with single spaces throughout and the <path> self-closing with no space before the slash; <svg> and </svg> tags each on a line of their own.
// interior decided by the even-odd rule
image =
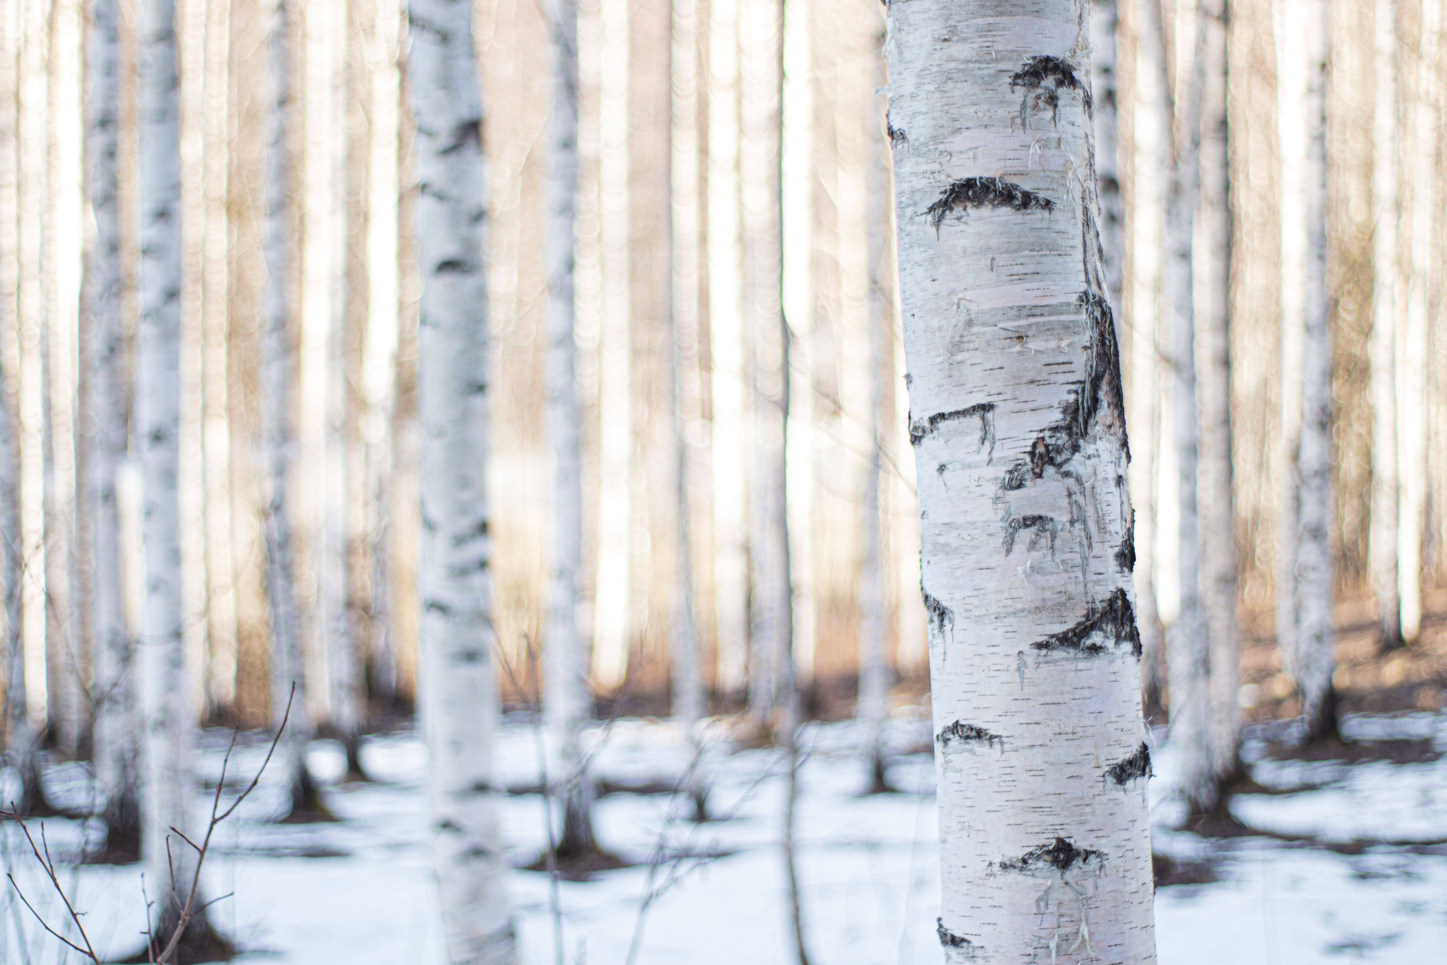
<svg viewBox="0 0 1447 965">
<path fill-rule="evenodd" d="M 1447 845 L 1440 843 L 1447 841 L 1447 757 L 1417 760 L 1447 751 L 1447 718 L 1353 718 L 1347 735 L 1411 738 L 1414 744 L 1378 745 L 1409 748 L 1395 757 L 1411 762 L 1276 760 L 1285 757 L 1281 745 L 1260 731 L 1247 742 L 1246 755 L 1255 761 L 1256 781 L 1275 793 L 1237 797 L 1233 810 L 1275 836 L 1218 842 L 1169 829 L 1179 820 L 1171 793 L 1174 761 L 1169 745 L 1156 748 L 1156 851 L 1188 871 L 1208 870 L 1194 875 L 1202 883 L 1156 893 L 1162 965 L 1447 961 Z M 619 720 L 598 728 L 592 738 L 596 774 L 618 786 L 671 784 L 692 761 L 686 735 L 667 722 Z M 899 794 L 860 796 L 865 768 L 858 738 L 848 722 L 812 726 L 805 738 L 797 836 L 812 959 L 818 965 L 938 965 L 943 956 L 935 940 L 933 764 L 928 752 L 917 752 L 928 747 L 929 725 L 900 719 L 891 726 L 899 755 L 890 777 L 904 791 Z M 224 745 L 220 734 L 204 741 L 201 773 L 213 786 Z M 599 839 L 635 867 L 586 883 L 561 881 L 556 897 L 546 874 L 514 875 L 525 962 L 792 962 L 778 845 L 784 758 L 776 749 L 712 747 L 697 768 L 721 820 L 684 820 L 689 806 L 682 797 L 611 793 L 598 803 Z M 240 748 L 227 783 L 255 773 L 263 754 L 263 744 Z M 509 719 L 502 729 L 499 777 L 514 788 L 535 786 L 538 760 L 532 723 Z M 339 823 L 268 823 L 281 791 L 263 780 L 217 832 L 205 887 L 210 897 L 234 893 L 213 913 L 250 949 L 242 961 L 444 961 L 428 870 L 423 749 L 412 734 L 392 734 L 370 741 L 363 761 L 379 781 L 330 790 Z M 311 762 L 321 777 L 343 771 L 340 748 L 326 741 L 313 747 Z M 52 768 L 49 781 L 68 803 L 78 804 L 88 794 L 78 765 Z M 198 793 L 198 815 L 208 803 Z M 515 865 L 531 864 L 544 849 L 543 815 L 537 793 L 502 802 Z M 30 826 L 39 832 L 38 822 Z M 84 833 L 78 822 L 45 822 L 52 854 L 72 855 Z M 7 871 L 36 910 L 59 926 L 64 909 L 13 823 L 4 825 L 0 842 Z M 67 891 L 87 910 L 97 951 L 103 956 L 136 951 L 143 927 L 139 867 L 75 870 L 64 861 L 59 867 Z M 559 930 L 563 956 L 554 945 Z M 0 961 L 81 961 L 74 952 L 65 958 L 64 951 L 43 935 L 14 890 L 0 897 Z"/>
</svg>

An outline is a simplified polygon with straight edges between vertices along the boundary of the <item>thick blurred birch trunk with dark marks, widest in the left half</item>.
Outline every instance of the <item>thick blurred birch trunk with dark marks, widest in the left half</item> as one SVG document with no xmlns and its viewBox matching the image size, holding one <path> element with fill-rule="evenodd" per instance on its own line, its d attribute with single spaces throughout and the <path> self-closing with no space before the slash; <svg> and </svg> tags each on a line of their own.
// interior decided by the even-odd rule
<svg viewBox="0 0 1447 965">
<path fill-rule="evenodd" d="M 453 965 L 517 961 L 498 838 L 486 453 L 488 253 L 482 97 L 472 4 L 411 0 L 421 275 L 420 703 L 430 752 L 433 867 Z"/>
</svg>

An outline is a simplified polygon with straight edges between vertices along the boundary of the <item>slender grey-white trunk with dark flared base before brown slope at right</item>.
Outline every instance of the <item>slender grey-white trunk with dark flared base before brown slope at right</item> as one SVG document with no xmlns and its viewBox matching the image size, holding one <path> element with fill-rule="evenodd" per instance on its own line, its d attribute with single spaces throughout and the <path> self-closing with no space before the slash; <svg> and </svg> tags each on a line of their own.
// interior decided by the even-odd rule
<svg viewBox="0 0 1447 965">
<path fill-rule="evenodd" d="M 1305 738 L 1337 734 L 1336 631 L 1331 621 L 1331 327 L 1327 305 L 1327 0 L 1308 0 L 1307 278 L 1301 362 L 1301 518 L 1297 535 L 1297 683 Z"/>
</svg>

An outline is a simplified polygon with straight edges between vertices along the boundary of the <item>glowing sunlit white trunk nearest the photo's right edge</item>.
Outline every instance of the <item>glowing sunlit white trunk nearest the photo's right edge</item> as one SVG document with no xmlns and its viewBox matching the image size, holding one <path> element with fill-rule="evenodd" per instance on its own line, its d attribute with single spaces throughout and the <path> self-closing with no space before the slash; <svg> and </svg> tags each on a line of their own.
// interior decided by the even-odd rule
<svg viewBox="0 0 1447 965">
<path fill-rule="evenodd" d="M 1402 602 L 1402 639 L 1415 642 L 1422 622 L 1424 540 L 1427 535 L 1427 359 L 1434 276 L 1434 231 L 1440 217 L 1437 178 L 1440 168 L 1438 124 L 1441 84 L 1441 0 L 1422 0 L 1418 36 L 1417 77 L 1412 91 L 1411 124 L 1411 234 L 1408 239 L 1406 304 L 1401 315 L 1398 347 L 1398 460 L 1401 502 L 1398 505 L 1398 577 Z"/>
</svg>

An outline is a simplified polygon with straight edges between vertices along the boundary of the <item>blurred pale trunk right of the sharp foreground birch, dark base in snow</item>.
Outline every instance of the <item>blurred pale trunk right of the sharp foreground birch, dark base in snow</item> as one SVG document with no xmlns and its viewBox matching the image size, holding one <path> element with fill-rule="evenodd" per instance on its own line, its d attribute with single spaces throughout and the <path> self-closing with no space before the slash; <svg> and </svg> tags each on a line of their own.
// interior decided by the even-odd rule
<svg viewBox="0 0 1447 965">
<path fill-rule="evenodd" d="M 1153 4 L 1152 4 L 1153 7 Z M 1171 742 L 1181 758 L 1181 790 L 1192 813 L 1210 810 L 1211 758 L 1207 709 L 1210 648 L 1205 609 L 1201 600 L 1201 525 L 1198 515 L 1197 360 L 1195 360 L 1195 205 L 1201 197 L 1201 119 L 1205 94 L 1205 14 L 1189 13 L 1191 59 L 1176 69 L 1178 84 L 1172 116 L 1162 126 L 1175 135 L 1171 182 L 1166 197 L 1165 289 L 1171 299 L 1171 372 L 1175 420 L 1176 467 L 1179 472 L 1179 573 L 1181 609 L 1166 634 L 1166 666 L 1171 679 Z M 1178 25 L 1185 29 L 1185 25 Z M 1165 61 L 1162 61 L 1162 65 Z M 1171 90 L 1169 78 L 1162 78 Z M 1166 104 L 1172 100 L 1165 98 Z"/>
</svg>

